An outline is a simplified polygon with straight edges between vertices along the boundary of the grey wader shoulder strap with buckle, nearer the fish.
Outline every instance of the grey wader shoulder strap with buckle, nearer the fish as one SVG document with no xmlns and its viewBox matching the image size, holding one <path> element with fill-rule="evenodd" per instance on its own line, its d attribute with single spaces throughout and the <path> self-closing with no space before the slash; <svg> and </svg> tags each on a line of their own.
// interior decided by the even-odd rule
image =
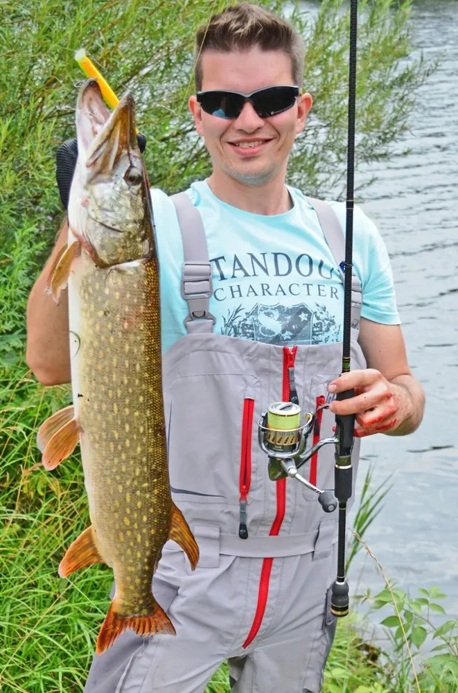
<svg viewBox="0 0 458 693">
<path fill-rule="evenodd" d="M 189 308 L 184 326 L 189 334 L 211 333 L 215 324 L 209 310 L 213 286 L 202 217 L 186 193 L 177 193 L 171 199 L 183 241 L 182 297 Z"/>
</svg>

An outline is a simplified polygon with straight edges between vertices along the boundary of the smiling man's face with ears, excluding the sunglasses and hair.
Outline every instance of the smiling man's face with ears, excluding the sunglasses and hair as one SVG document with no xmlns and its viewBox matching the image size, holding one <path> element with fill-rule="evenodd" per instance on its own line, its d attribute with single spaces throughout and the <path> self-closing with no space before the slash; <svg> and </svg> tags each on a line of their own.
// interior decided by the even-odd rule
<svg viewBox="0 0 458 693">
<path fill-rule="evenodd" d="M 202 91 L 229 89 L 249 94 L 263 87 L 294 85 L 289 56 L 283 51 L 261 51 L 257 46 L 244 52 L 205 51 L 202 73 Z M 205 113 L 195 96 L 189 99 L 195 128 L 204 137 L 213 170 L 245 185 L 262 185 L 276 175 L 285 175 L 288 155 L 311 105 L 310 94 L 303 94 L 292 108 L 263 119 L 247 101 L 237 119 L 225 120 Z M 248 143 L 255 146 L 247 148 Z"/>
</svg>

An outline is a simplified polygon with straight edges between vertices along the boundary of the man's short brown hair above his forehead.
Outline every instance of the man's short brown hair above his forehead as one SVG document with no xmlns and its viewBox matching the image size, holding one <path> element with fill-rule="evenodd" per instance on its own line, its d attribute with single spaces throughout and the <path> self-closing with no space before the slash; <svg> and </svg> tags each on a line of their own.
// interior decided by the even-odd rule
<svg viewBox="0 0 458 693">
<path fill-rule="evenodd" d="M 259 46 L 262 51 L 283 51 L 291 59 L 292 78 L 299 87 L 303 79 L 302 37 L 289 21 L 258 5 L 242 2 L 231 5 L 197 29 L 195 37 L 195 89 L 202 89 L 202 53 L 206 50 L 246 51 Z"/>
</svg>

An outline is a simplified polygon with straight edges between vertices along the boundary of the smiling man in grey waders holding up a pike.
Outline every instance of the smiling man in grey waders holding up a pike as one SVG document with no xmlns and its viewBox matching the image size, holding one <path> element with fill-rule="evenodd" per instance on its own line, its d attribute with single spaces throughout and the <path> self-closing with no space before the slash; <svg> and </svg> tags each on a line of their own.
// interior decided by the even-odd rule
<svg viewBox="0 0 458 693">
<path fill-rule="evenodd" d="M 336 518 L 294 480 L 270 481 L 256 421 L 293 390 L 303 411 L 313 411 L 353 387 L 353 398 L 320 410 L 322 437 L 336 413 L 357 415 L 358 438 L 406 435 L 421 422 L 423 391 L 407 365 L 389 258 L 358 208 L 362 305 L 353 301 L 354 370 L 338 377 L 343 287 L 328 245 L 335 229 L 322 227 L 313 203 L 285 185 L 312 106 L 310 94 L 294 88 L 302 74 L 299 35 L 262 8 L 231 6 L 197 32 L 189 107 L 213 172 L 187 195 L 204 225 L 204 243 L 194 229 L 191 245 L 202 265 L 208 247 L 213 293 L 207 281 L 208 290 L 182 295 L 182 273 L 195 258 L 184 252 L 173 200 L 152 191 L 152 209 L 170 485 L 200 563 L 191 573 L 177 545 L 164 547 L 154 593 L 177 635 L 127 631 L 94 658 L 87 693 L 202 693 L 225 659 L 236 693 L 318 693 L 335 630 Z M 332 207 L 344 227 L 344 205 Z M 337 236 L 342 245 L 340 229 Z M 64 242 L 62 234 L 53 256 Z M 70 379 L 67 304 L 55 306 L 44 293 L 49 263 L 28 303 L 27 360 L 46 385 Z M 331 446 L 302 469 L 332 488 Z"/>
</svg>

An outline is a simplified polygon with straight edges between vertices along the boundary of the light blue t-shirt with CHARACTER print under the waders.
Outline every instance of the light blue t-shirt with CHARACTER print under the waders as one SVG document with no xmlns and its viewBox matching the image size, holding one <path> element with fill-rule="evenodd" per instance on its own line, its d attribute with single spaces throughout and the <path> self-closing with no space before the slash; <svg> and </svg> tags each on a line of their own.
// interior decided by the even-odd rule
<svg viewBox="0 0 458 693">
<path fill-rule="evenodd" d="M 292 346 L 342 340 L 344 287 L 315 210 L 288 186 L 294 206 L 274 216 L 222 202 L 206 181 L 187 194 L 206 232 L 213 267 L 210 312 L 215 333 Z M 162 349 L 186 334 L 180 293 L 183 247 L 175 207 L 151 191 L 161 276 Z M 330 202 L 345 229 L 344 202 Z M 342 258 L 343 260 L 344 258 Z M 361 315 L 400 324 L 391 265 L 376 226 L 359 208 L 353 220 L 353 266 L 362 284 Z"/>
</svg>

